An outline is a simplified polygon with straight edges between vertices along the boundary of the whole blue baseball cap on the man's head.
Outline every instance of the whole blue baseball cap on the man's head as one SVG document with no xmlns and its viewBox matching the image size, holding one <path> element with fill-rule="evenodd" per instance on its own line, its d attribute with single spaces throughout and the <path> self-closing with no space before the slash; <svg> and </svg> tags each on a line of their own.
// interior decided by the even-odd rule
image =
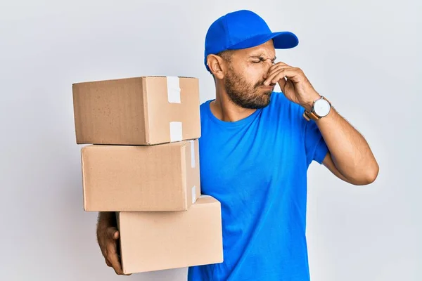
<svg viewBox="0 0 422 281">
<path fill-rule="evenodd" d="M 207 55 L 226 50 L 252 48 L 273 39 L 274 48 L 293 48 L 299 40 L 292 32 L 271 32 L 267 23 L 256 13 L 248 10 L 227 13 L 212 22 L 205 37 L 204 63 Z"/>
</svg>

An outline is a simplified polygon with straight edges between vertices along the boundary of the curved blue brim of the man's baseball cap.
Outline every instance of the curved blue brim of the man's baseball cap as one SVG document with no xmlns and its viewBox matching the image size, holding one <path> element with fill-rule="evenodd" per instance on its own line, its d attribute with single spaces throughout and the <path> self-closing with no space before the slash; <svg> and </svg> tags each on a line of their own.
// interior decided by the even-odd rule
<svg viewBox="0 0 422 281">
<path fill-rule="evenodd" d="M 252 48 L 264 44 L 273 39 L 274 48 L 294 48 L 298 46 L 299 39 L 292 32 L 272 32 L 269 34 L 260 34 L 250 37 L 238 44 L 229 47 L 229 50 L 238 50 L 241 48 Z"/>
</svg>

